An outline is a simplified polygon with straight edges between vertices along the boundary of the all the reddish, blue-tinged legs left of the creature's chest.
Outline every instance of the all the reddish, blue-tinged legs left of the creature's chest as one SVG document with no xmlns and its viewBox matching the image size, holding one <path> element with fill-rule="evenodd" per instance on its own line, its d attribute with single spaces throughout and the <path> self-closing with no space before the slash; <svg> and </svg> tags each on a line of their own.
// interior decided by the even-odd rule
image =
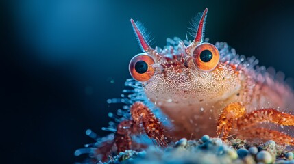
<svg viewBox="0 0 294 164">
<path fill-rule="evenodd" d="M 117 125 L 114 139 L 103 141 L 95 147 L 82 148 L 77 150 L 75 154 L 79 156 L 89 153 L 90 156 L 95 156 L 91 159 L 93 163 L 97 163 L 97 159 L 107 161 L 111 152 L 115 151 L 114 145 L 117 146 L 117 152 L 146 148 L 146 145 L 132 141 L 132 135 L 139 135 L 140 133 L 146 133 L 150 139 L 160 146 L 167 146 L 167 143 L 169 143 L 167 137 L 165 137 L 167 131 L 147 106 L 142 102 L 135 102 L 130 108 L 130 113 L 132 117 L 130 120 L 124 120 Z"/>
</svg>

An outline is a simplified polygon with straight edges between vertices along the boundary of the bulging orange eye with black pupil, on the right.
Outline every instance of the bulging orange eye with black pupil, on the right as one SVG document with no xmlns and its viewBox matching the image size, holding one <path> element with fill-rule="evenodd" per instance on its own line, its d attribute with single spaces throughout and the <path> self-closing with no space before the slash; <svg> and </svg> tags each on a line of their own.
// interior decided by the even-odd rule
<svg viewBox="0 0 294 164">
<path fill-rule="evenodd" d="M 219 51 L 210 43 L 199 44 L 193 51 L 193 61 L 201 70 L 210 72 L 219 63 Z"/>
</svg>

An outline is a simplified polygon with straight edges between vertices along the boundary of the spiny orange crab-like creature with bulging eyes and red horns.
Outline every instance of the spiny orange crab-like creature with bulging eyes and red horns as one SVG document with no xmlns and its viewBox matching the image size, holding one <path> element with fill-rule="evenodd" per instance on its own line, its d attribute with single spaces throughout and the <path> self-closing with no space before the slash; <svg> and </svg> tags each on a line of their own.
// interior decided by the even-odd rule
<svg viewBox="0 0 294 164">
<path fill-rule="evenodd" d="M 207 12 L 195 18 L 193 42 L 168 38 L 164 49 L 152 49 L 145 29 L 131 19 L 143 51 L 130 61 L 136 81 L 126 85 L 133 89 L 124 90 L 127 98 L 109 100 L 126 104 L 117 113 L 121 117 L 110 113 L 118 124 L 105 129 L 114 134 L 99 139 L 88 130 L 97 143 L 77 155 L 106 160 L 112 152 L 140 150 L 147 145 L 136 137 L 142 135 L 162 147 L 202 135 L 294 146 L 293 91 L 254 57 L 237 55 L 225 42 L 204 42 Z"/>
</svg>

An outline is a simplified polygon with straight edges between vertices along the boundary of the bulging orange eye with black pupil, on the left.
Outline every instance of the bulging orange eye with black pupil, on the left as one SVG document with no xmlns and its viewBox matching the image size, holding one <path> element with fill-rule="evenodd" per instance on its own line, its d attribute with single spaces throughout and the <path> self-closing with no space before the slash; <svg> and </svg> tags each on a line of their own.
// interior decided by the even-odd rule
<svg viewBox="0 0 294 164">
<path fill-rule="evenodd" d="M 129 65 L 130 74 L 137 81 L 148 81 L 154 75 L 154 60 L 146 53 L 134 56 Z"/>
</svg>

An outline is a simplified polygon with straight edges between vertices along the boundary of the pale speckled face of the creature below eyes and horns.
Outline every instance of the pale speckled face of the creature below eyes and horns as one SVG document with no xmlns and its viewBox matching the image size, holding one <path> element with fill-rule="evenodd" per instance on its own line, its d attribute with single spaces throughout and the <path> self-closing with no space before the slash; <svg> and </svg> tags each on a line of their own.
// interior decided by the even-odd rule
<svg viewBox="0 0 294 164">
<path fill-rule="evenodd" d="M 151 79 L 143 83 L 152 101 L 158 104 L 217 102 L 241 87 L 238 74 L 226 64 L 219 63 L 210 72 L 199 69 L 192 60 L 187 66 L 177 64 L 177 61 L 170 61 L 168 67 L 156 68 Z"/>
</svg>

